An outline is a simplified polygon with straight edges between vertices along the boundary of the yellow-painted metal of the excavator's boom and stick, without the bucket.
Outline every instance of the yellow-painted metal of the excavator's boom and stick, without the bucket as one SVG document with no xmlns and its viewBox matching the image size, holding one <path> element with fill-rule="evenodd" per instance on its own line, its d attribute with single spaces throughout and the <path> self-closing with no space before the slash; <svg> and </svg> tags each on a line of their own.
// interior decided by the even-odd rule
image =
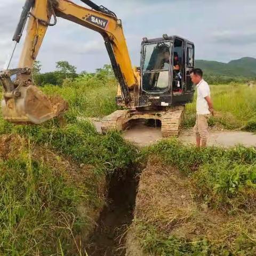
<svg viewBox="0 0 256 256">
<path fill-rule="evenodd" d="M 52 6 L 52 3 L 55 3 L 53 9 L 49 8 L 49 6 Z M 138 74 L 136 74 L 132 68 L 121 20 L 111 15 L 79 6 L 68 0 L 35 0 L 35 5 L 31 13 L 33 15 L 29 17 L 27 35 L 19 67 L 33 67 L 33 63 L 47 31 L 47 22 L 50 22 L 52 15 L 55 13 L 57 17 L 97 31 L 103 38 L 108 38 L 111 41 L 116 62 L 121 68 L 127 87 L 132 90 L 134 86 L 138 86 Z M 107 20 L 107 26 L 102 28 L 101 26 L 86 21 L 86 17 L 90 15 L 95 15 L 101 19 Z M 42 20 L 45 22 L 42 22 Z"/>
</svg>

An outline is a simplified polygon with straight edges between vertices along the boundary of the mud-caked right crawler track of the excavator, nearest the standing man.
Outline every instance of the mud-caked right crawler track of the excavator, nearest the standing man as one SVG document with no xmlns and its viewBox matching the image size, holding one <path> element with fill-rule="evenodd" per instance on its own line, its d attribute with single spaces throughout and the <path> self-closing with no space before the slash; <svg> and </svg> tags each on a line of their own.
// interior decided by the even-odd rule
<svg viewBox="0 0 256 256">
<path fill-rule="evenodd" d="M 162 136 L 173 137 L 180 133 L 180 125 L 183 119 L 185 106 L 173 107 L 162 116 Z"/>
</svg>

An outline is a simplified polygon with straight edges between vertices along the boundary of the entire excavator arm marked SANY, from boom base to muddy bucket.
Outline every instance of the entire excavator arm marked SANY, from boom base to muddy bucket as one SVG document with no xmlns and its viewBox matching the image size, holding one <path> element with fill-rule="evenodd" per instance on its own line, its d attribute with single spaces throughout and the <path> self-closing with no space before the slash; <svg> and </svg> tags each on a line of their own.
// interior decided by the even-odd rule
<svg viewBox="0 0 256 256">
<path fill-rule="evenodd" d="M 27 35 L 19 66 L 17 69 L 0 73 L 4 87 L 2 111 L 7 121 L 39 124 L 67 110 L 67 103 L 64 100 L 46 97 L 33 84 L 31 78 L 31 70 L 47 28 L 57 23 L 57 17 L 75 22 L 102 35 L 121 87 L 122 98 L 126 106 L 131 106 L 131 92 L 138 87 L 138 81 L 132 68 L 122 21 L 103 6 L 98 6 L 90 0 L 81 1 L 94 10 L 69 0 L 26 0 L 13 37 L 13 41 L 19 43 L 28 19 Z"/>
</svg>

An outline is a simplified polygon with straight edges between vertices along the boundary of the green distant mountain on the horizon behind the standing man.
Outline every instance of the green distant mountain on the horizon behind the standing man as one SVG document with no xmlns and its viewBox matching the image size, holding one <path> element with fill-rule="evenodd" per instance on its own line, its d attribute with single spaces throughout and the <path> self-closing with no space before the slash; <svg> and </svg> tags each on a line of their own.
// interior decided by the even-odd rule
<svg viewBox="0 0 256 256">
<path fill-rule="evenodd" d="M 197 68 L 201 68 L 207 75 L 256 77 L 256 59 L 251 57 L 231 60 L 228 63 L 209 60 L 196 60 L 195 65 Z"/>
</svg>

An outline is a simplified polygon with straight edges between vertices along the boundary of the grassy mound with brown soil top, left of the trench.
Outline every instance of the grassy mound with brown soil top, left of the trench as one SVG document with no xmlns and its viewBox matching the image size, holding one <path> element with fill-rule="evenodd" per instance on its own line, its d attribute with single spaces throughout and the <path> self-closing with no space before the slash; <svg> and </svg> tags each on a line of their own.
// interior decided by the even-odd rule
<svg viewBox="0 0 256 256">
<path fill-rule="evenodd" d="M 18 135 L 1 145 L 1 255 L 60 255 L 58 240 L 63 252 L 79 255 L 73 235 L 92 228 L 103 178 Z"/>
</svg>

